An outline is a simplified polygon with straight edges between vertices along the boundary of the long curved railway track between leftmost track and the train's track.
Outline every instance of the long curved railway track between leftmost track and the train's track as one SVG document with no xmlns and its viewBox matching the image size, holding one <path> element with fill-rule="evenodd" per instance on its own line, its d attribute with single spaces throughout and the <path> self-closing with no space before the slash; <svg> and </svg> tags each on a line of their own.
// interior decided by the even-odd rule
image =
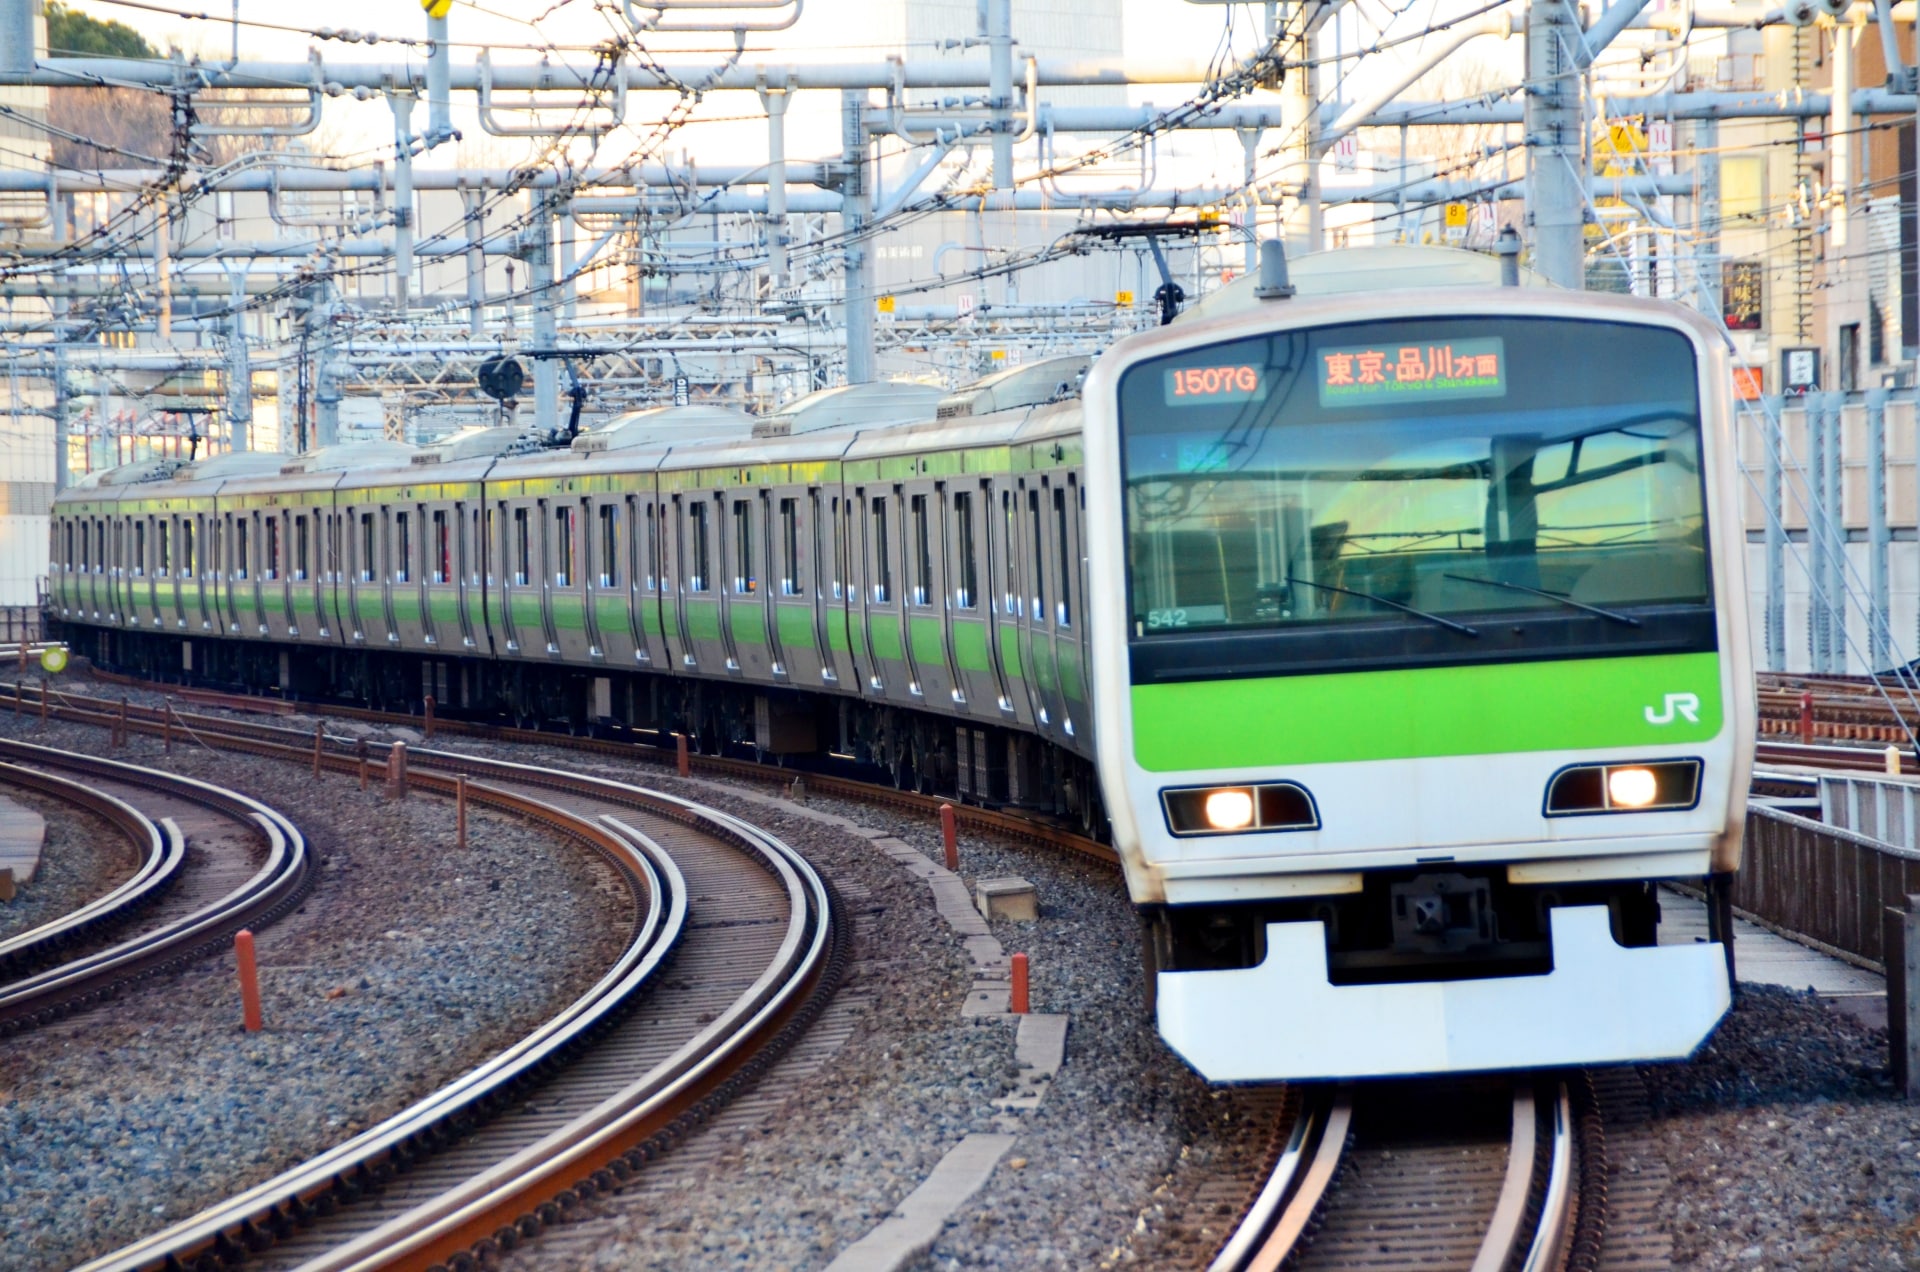
<svg viewBox="0 0 1920 1272">
<path fill-rule="evenodd" d="M 79 699 L 50 699 L 48 715 L 129 732 L 182 726 Z M 315 759 L 311 738 L 292 746 L 257 726 L 205 719 L 194 734 L 217 749 Z M 355 772 L 351 740 L 334 742 L 321 765 Z M 839 980 L 847 936 L 826 882 L 749 822 L 622 782 L 432 749 L 411 755 L 407 778 L 436 794 L 465 780 L 468 799 L 611 861 L 636 899 L 620 961 L 482 1068 L 90 1272 L 476 1266 L 618 1189 L 753 1082 Z"/>
</svg>

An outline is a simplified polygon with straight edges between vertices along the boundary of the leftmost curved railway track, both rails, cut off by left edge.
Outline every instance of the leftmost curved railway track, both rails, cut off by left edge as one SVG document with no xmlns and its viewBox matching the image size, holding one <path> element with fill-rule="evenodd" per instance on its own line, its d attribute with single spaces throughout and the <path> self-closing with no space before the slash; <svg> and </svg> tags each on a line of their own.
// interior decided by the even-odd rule
<svg viewBox="0 0 1920 1272">
<path fill-rule="evenodd" d="M 71 776 L 61 776 L 71 774 Z M 0 784 L 106 819 L 140 855 L 132 878 L 0 942 L 0 1036 L 90 1007 L 127 984 L 288 913 L 311 878 L 307 842 L 267 805 L 211 782 L 0 740 Z"/>
</svg>

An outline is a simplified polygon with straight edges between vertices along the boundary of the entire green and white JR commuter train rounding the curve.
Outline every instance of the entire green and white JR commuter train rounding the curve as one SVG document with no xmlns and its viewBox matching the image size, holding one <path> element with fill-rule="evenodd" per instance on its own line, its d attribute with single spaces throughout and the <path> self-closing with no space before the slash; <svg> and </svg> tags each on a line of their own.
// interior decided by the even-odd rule
<svg viewBox="0 0 1920 1272">
<path fill-rule="evenodd" d="M 119 471 L 50 603 L 152 676 L 1108 826 L 1215 1082 L 1682 1057 L 1724 936 L 1659 943 L 1657 884 L 1724 892 L 1755 740 L 1728 359 L 1492 273 L 1306 257 L 950 396 Z"/>
</svg>

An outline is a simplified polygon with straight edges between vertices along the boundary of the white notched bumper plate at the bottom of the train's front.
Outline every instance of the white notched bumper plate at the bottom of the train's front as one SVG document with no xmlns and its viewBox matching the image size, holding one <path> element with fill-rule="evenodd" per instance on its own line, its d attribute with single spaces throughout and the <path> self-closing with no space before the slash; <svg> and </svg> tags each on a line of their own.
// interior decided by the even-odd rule
<svg viewBox="0 0 1920 1272">
<path fill-rule="evenodd" d="M 1605 905 L 1551 913 L 1553 970 L 1332 986 L 1319 922 L 1269 922 L 1267 959 L 1160 972 L 1160 1036 L 1208 1082 L 1665 1061 L 1690 1055 L 1732 997 L 1720 945 L 1626 949 Z"/>
</svg>

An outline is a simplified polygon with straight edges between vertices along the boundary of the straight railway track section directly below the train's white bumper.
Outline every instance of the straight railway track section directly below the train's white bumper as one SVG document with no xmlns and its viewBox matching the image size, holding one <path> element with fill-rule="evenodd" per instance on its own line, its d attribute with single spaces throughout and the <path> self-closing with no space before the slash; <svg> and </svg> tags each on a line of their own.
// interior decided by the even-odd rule
<svg viewBox="0 0 1920 1272">
<path fill-rule="evenodd" d="M 1315 1088 L 1208 1272 L 1549 1272 L 1582 1199 L 1567 1082 Z"/>
</svg>

